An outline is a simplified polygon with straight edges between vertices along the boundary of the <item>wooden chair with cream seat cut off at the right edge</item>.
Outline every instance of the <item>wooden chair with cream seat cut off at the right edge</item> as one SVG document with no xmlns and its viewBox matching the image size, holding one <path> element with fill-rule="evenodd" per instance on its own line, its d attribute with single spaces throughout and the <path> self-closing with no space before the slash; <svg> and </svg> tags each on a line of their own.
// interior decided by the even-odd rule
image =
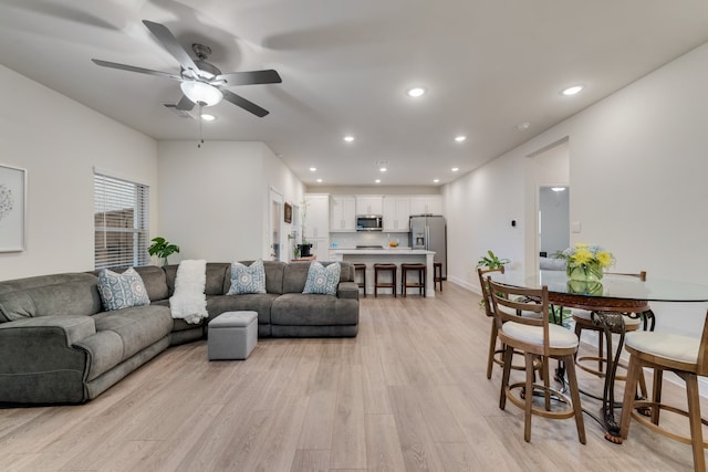
<svg viewBox="0 0 708 472">
<path fill-rule="evenodd" d="M 626 439 L 629 432 L 629 421 L 635 418 L 649 429 L 667 438 L 690 444 L 694 454 L 694 469 L 706 470 L 704 449 L 708 443 L 704 441 L 701 423 L 700 397 L 698 391 L 698 376 L 708 376 L 708 313 L 704 321 L 700 338 L 670 333 L 635 332 L 627 334 L 625 348 L 629 353 L 629 367 L 624 391 L 620 434 Z M 650 399 L 636 399 L 634 391 L 645 367 L 654 369 L 654 382 Z M 664 371 L 676 374 L 686 382 L 688 409 L 662 402 L 662 381 Z M 650 409 L 648 416 L 635 409 Z M 677 433 L 674 424 L 671 430 L 659 426 L 659 412 L 667 410 L 688 417 L 690 436 Z"/>
</svg>

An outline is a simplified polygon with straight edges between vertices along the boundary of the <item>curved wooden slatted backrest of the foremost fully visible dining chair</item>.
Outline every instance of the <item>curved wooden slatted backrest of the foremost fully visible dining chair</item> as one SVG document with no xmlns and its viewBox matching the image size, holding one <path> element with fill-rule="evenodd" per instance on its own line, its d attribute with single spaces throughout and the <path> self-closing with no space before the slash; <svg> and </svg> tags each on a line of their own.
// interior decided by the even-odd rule
<svg viewBox="0 0 708 472">
<path fill-rule="evenodd" d="M 549 349 L 549 287 L 541 289 L 518 287 L 496 283 L 487 277 L 492 310 L 498 322 L 508 322 L 543 328 L 543 355 Z M 538 314 L 534 316 L 534 314 Z"/>
</svg>

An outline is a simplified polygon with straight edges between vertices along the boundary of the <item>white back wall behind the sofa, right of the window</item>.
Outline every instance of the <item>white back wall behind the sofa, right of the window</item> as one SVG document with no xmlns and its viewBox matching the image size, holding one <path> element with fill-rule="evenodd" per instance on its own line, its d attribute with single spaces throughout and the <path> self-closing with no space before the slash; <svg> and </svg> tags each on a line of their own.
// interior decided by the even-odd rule
<svg viewBox="0 0 708 472">
<path fill-rule="evenodd" d="M 301 201 L 304 187 L 262 143 L 158 144 L 159 235 L 184 259 L 268 259 L 269 188 Z"/>
</svg>

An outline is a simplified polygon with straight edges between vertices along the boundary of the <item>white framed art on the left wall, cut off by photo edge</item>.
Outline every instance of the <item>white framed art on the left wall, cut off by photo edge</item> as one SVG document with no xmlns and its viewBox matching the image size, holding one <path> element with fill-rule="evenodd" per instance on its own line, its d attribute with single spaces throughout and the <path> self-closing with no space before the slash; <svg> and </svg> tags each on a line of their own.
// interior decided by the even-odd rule
<svg viewBox="0 0 708 472">
<path fill-rule="evenodd" d="M 24 251 L 27 170 L 0 164 L 0 252 Z"/>
</svg>

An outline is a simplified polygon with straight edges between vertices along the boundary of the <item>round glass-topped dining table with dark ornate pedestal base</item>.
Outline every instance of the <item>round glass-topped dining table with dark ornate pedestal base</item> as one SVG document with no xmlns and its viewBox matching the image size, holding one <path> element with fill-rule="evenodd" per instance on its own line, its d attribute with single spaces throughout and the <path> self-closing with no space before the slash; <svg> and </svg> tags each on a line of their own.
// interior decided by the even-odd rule
<svg viewBox="0 0 708 472">
<path fill-rule="evenodd" d="M 593 323 L 602 328 L 606 342 L 604 388 L 598 415 L 583 410 L 605 429 L 605 439 L 621 444 L 620 423 L 615 419 L 614 387 L 617 365 L 624 346 L 625 316 L 641 317 L 644 329 L 654 331 L 656 316 L 650 302 L 708 302 L 708 285 L 662 277 L 642 277 L 633 274 L 607 273 L 600 281 L 575 281 L 565 271 L 541 270 L 532 275 L 513 271 L 492 273 L 492 280 L 514 286 L 541 289 L 546 286 L 551 314 L 555 323 L 562 323 L 563 308 L 586 310 Z M 561 314 L 561 316 L 556 316 Z M 613 334 L 617 336 L 613 348 Z M 562 366 L 556 377 L 564 378 Z"/>
</svg>

